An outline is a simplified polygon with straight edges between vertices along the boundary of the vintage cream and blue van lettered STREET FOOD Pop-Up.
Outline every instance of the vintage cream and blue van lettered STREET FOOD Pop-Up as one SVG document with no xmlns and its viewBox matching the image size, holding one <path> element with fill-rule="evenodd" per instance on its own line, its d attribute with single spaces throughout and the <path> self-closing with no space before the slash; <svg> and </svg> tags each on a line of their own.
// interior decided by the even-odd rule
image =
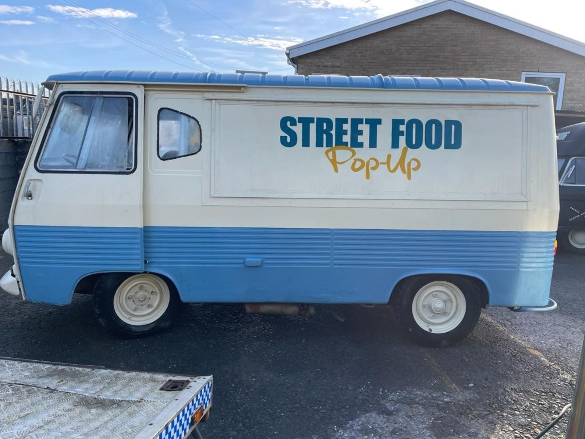
<svg viewBox="0 0 585 439">
<path fill-rule="evenodd" d="M 117 334 L 181 302 L 391 304 L 445 346 L 552 310 L 552 94 L 474 78 L 87 71 L 52 90 L 1 286 L 91 293 Z"/>
</svg>

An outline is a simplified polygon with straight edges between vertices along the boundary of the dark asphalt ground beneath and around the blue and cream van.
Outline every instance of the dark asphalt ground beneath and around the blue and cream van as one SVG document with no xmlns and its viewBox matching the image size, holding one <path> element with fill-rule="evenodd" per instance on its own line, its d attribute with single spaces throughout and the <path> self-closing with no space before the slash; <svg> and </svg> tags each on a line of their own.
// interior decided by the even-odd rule
<svg viewBox="0 0 585 439">
<path fill-rule="evenodd" d="M 4 272 L 12 260 L 0 262 Z M 185 306 L 171 330 L 128 340 L 102 330 L 90 296 L 59 307 L 0 294 L 0 356 L 214 375 L 205 439 L 530 438 L 572 400 L 584 289 L 585 257 L 560 253 L 558 310 L 490 308 L 442 349 L 411 344 L 383 306 L 308 318 Z"/>
</svg>

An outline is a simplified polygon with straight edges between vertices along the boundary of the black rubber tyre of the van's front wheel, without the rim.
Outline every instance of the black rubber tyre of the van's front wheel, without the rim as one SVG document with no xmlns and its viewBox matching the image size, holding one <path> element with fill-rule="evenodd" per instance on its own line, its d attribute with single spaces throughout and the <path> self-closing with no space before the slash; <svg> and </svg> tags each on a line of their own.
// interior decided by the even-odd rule
<svg viewBox="0 0 585 439">
<path fill-rule="evenodd" d="M 92 297 L 95 317 L 99 323 L 118 337 L 122 338 L 136 338 L 144 337 L 146 335 L 157 334 L 158 332 L 166 330 L 173 323 L 174 318 L 178 314 L 181 305 L 181 299 L 178 296 L 177 289 L 167 280 L 159 277 L 167 284 L 170 291 L 170 300 L 164 313 L 149 324 L 132 325 L 121 320 L 114 308 L 114 297 L 118 287 L 129 277 L 137 273 L 106 273 L 99 277 L 94 286 Z"/>
</svg>

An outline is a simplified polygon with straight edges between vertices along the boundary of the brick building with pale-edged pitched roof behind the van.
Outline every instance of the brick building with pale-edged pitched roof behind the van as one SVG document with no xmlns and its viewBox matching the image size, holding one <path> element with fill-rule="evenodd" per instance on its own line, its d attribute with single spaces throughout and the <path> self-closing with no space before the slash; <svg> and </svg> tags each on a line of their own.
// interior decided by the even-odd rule
<svg viewBox="0 0 585 439">
<path fill-rule="evenodd" d="M 299 74 L 483 77 L 548 85 L 558 126 L 585 121 L 585 43 L 437 0 L 291 46 Z"/>
</svg>

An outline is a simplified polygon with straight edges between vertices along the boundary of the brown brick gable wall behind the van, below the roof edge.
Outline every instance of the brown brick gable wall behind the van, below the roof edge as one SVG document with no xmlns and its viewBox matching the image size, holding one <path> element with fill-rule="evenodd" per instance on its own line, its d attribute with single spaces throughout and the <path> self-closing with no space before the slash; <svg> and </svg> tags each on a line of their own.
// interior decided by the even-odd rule
<svg viewBox="0 0 585 439">
<path fill-rule="evenodd" d="M 445 11 L 294 59 L 299 74 L 398 74 L 521 80 L 566 73 L 563 109 L 585 110 L 585 57 Z"/>
</svg>

